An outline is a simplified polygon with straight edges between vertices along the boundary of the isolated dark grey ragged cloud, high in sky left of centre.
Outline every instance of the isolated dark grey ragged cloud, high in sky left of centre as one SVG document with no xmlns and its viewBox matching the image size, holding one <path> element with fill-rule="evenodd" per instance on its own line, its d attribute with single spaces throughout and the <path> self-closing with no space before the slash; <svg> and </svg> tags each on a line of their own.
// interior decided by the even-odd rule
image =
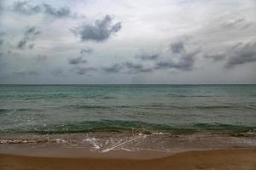
<svg viewBox="0 0 256 170">
<path fill-rule="evenodd" d="M 96 20 L 93 25 L 84 24 L 72 29 L 75 35 L 78 35 L 81 41 L 95 41 L 102 42 L 114 33 L 120 31 L 121 22 L 112 24 L 112 18 L 106 15 L 102 20 Z"/>
</svg>

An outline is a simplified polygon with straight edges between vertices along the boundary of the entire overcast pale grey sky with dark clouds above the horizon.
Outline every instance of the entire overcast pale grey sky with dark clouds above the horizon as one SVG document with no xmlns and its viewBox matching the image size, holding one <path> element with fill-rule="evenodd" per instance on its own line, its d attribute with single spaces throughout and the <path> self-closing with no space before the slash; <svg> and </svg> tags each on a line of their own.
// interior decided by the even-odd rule
<svg viewBox="0 0 256 170">
<path fill-rule="evenodd" d="M 255 0 L 0 0 L 0 83 L 256 83 Z"/>
</svg>

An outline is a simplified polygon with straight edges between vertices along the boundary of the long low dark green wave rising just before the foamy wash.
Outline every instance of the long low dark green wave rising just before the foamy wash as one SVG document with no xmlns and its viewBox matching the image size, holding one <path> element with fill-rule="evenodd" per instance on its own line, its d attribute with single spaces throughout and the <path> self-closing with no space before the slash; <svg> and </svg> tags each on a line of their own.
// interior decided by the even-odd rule
<svg viewBox="0 0 256 170">
<path fill-rule="evenodd" d="M 243 133 L 256 127 L 221 123 L 191 123 L 186 125 L 157 124 L 140 121 L 101 120 L 85 122 L 65 122 L 42 126 L 26 126 L 0 130 L 1 133 L 87 133 L 123 132 L 141 133 L 196 133 L 196 132 L 234 132 Z"/>
</svg>

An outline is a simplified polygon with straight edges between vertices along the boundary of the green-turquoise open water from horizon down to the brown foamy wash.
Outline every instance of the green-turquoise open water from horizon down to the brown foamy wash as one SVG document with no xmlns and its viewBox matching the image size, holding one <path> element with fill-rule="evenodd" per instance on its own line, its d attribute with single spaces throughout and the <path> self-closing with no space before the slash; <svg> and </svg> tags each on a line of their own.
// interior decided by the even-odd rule
<svg viewBox="0 0 256 170">
<path fill-rule="evenodd" d="M 0 86 L 0 133 L 255 128 L 256 85 Z"/>
</svg>

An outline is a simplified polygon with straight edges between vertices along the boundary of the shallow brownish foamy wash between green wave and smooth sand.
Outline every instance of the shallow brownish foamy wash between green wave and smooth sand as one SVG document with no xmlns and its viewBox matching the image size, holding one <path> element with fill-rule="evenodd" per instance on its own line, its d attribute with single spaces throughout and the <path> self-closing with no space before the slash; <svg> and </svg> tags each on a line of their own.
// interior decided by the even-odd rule
<svg viewBox="0 0 256 170">
<path fill-rule="evenodd" d="M 255 133 L 64 133 L 9 134 L 0 137 L 0 154 L 24 156 L 85 156 L 110 151 L 162 152 L 176 154 L 189 150 L 255 149 Z M 69 153 L 69 155 L 70 155 Z M 132 155 L 132 154 L 131 154 Z"/>
</svg>

